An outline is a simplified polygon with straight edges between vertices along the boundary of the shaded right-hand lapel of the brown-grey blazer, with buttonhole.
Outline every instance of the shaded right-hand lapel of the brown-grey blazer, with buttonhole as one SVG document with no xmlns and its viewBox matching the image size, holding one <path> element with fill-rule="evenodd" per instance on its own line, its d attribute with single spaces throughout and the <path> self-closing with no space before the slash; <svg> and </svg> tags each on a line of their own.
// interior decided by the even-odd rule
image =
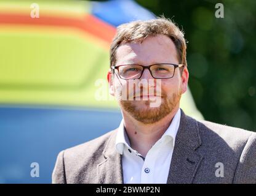
<svg viewBox="0 0 256 196">
<path fill-rule="evenodd" d="M 197 122 L 182 111 L 167 184 L 193 183 L 203 159 L 202 155 L 196 152 L 196 148 L 200 145 L 201 138 Z"/>
</svg>

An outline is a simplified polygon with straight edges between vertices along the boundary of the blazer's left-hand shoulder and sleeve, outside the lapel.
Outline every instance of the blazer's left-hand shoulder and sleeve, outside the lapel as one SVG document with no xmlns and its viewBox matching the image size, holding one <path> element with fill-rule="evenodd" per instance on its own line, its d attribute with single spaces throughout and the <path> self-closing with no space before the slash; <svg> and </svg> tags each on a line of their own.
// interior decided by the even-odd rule
<svg viewBox="0 0 256 196">
<path fill-rule="evenodd" d="M 116 129 L 94 140 L 61 151 L 52 173 L 52 182 L 97 183 L 97 165 L 104 160 L 103 151 L 115 134 Z"/>
</svg>

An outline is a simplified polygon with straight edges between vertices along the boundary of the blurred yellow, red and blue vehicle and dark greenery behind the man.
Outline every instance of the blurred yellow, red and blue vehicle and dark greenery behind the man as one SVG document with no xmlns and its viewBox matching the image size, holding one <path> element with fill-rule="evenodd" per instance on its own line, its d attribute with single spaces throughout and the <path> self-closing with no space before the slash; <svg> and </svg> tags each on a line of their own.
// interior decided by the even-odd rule
<svg viewBox="0 0 256 196">
<path fill-rule="evenodd" d="M 255 131 L 255 13 L 254 0 L 0 1 L 0 183 L 51 183 L 60 151 L 119 126 L 109 47 L 132 20 L 164 15 L 185 31 L 187 115 Z"/>
</svg>

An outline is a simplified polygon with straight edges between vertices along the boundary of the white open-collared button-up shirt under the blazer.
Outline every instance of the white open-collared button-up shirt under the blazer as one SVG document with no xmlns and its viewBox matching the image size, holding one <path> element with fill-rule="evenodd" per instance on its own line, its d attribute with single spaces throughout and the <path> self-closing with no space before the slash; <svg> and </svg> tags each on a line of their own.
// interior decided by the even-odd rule
<svg viewBox="0 0 256 196">
<path fill-rule="evenodd" d="M 156 141 L 145 160 L 141 154 L 130 147 L 129 138 L 122 119 L 116 135 L 116 150 L 122 154 L 124 184 L 166 184 L 170 161 L 180 125 L 180 108 L 162 137 Z"/>
</svg>

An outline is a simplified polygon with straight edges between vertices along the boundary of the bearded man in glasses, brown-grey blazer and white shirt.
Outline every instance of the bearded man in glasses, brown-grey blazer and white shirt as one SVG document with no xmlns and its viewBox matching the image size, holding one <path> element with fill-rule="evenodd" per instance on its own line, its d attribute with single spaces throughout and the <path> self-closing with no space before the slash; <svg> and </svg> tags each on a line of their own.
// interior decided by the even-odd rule
<svg viewBox="0 0 256 196">
<path fill-rule="evenodd" d="M 254 132 L 180 109 L 189 74 L 183 32 L 172 21 L 119 26 L 110 61 L 121 124 L 62 151 L 53 183 L 256 183 Z"/>
</svg>

